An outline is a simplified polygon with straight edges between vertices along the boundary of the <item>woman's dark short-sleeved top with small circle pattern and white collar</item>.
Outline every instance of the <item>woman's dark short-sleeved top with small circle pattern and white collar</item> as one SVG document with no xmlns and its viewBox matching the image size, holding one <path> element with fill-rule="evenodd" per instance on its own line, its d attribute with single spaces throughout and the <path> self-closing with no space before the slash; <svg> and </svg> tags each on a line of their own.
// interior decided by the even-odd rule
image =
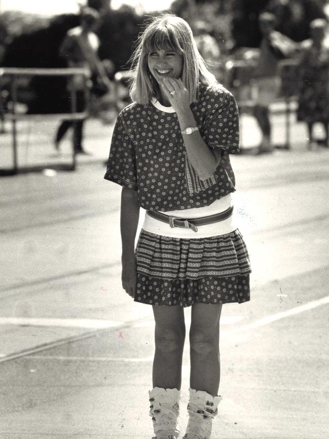
<svg viewBox="0 0 329 439">
<path fill-rule="evenodd" d="M 137 190 L 143 209 L 162 212 L 209 206 L 234 192 L 229 153 L 239 151 L 239 117 L 233 95 L 221 85 L 200 85 L 191 110 L 205 143 L 222 148 L 211 178 L 198 178 L 175 110 L 157 101 L 145 106 L 134 102 L 120 112 L 104 178 Z"/>
</svg>

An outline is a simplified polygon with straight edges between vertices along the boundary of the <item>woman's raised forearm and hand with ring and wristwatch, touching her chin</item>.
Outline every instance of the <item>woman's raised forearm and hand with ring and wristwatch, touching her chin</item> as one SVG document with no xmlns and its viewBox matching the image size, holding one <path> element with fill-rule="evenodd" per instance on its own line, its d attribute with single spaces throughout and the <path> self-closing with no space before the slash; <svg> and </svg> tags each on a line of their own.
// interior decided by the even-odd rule
<svg viewBox="0 0 329 439">
<path fill-rule="evenodd" d="M 182 81 L 166 78 L 162 88 L 177 113 L 181 130 L 185 130 L 187 127 L 196 127 L 197 123 L 190 108 L 189 94 Z M 170 94 L 171 91 L 175 91 L 174 95 Z M 182 136 L 193 169 L 201 180 L 207 180 L 214 174 L 220 163 L 221 148 L 212 150 L 204 142 L 198 130 L 192 134 L 182 134 Z"/>
</svg>

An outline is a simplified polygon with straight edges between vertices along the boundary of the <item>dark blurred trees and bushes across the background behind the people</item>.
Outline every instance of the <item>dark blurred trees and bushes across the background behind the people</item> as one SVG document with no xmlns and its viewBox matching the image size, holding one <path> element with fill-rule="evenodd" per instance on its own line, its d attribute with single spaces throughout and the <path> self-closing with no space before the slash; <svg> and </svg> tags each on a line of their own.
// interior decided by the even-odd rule
<svg viewBox="0 0 329 439">
<path fill-rule="evenodd" d="M 230 49 L 258 47 L 261 35 L 258 17 L 262 11 L 272 11 L 277 17 L 277 29 L 302 41 L 309 37 L 309 23 L 317 17 L 324 17 L 322 0 L 176 0 L 172 12 L 188 20 L 198 18 L 205 11 L 205 19 L 212 21 L 218 41 L 231 39 Z M 101 41 L 100 58 L 110 59 L 115 70 L 129 67 L 131 57 L 145 17 L 137 15 L 132 8 L 123 7 L 113 11 L 108 0 L 89 0 L 89 6 L 101 13 L 98 36 Z M 193 17 L 194 14 L 194 17 Z M 58 48 L 66 32 L 79 24 L 75 14 L 60 15 L 52 19 L 46 27 L 25 32 L 14 37 L 3 56 L 2 65 L 15 67 L 64 67 Z M 221 29 L 225 30 L 225 34 Z M 228 32 L 227 32 L 228 29 Z M 65 89 L 65 79 L 38 78 L 31 84 L 33 100 L 29 102 L 30 112 L 60 112 L 65 99 L 61 91 Z"/>
</svg>

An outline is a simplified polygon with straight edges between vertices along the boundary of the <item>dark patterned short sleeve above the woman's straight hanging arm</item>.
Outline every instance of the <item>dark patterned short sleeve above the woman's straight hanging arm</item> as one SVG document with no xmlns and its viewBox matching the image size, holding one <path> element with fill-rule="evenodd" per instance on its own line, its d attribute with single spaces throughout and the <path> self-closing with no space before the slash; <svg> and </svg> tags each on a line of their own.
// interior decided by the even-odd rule
<svg viewBox="0 0 329 439">
<path fill-rule="evenodd" d="M 113 130 L 104 178 L 127 189 L 137 190 L 134 140 L 128 135 L 120 115 Z"/>
</svg>

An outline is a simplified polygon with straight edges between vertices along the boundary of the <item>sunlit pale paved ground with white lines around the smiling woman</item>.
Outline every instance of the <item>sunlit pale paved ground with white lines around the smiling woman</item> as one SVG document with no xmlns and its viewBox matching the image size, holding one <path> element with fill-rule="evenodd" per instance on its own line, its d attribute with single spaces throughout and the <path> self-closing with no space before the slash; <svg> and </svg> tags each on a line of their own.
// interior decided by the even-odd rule
<svg viewBox="0 0 329 439">
<path fill-rule="evenodd" d="M 43 159 L 53 126 L 30 130 Z M 243 127 L 243 144 L 257 143 L 253 119 Z M 93 155 L 75 172 L 0 180 L 0 438 L 151 437 L 153 323 L 120 288 L 119 188 L 102 179 L 110 132 L 88 123 Z M 223 310 L 214 439 L 329 437 L 328 164 L 299 124 L 291 151 L 233 157 L 253 289 L 250 303 Z M 182 429 L 188 364 L 187 343 Z"/>
</svg>

